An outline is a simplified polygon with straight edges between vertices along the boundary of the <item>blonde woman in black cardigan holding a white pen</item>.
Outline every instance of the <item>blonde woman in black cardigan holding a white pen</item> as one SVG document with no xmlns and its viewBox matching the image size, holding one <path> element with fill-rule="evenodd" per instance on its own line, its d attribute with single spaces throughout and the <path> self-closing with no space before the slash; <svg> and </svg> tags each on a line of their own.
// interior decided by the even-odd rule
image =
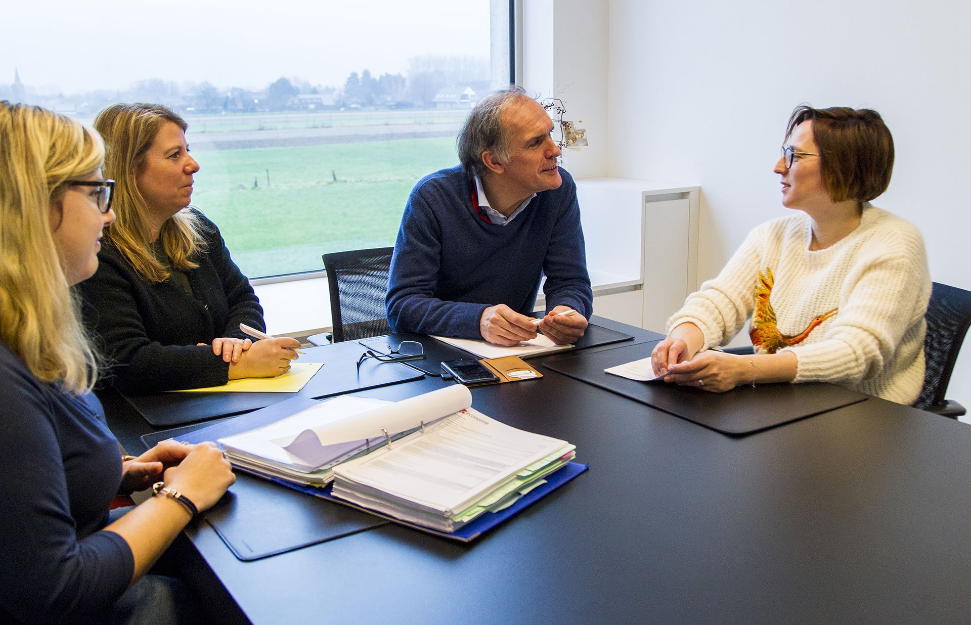
<svg viewBox="0 0 971 625">
<path fill-rule="evenodd" d="M 295 339 L 251 343 L 244 323 L 264 330 L 263 309 L 212 221 L 188 208 L 199 164 L 184 119 L 153 104 L 116 104 L 95 119 L 117 181 L 117 219 L 101 266 L 81 287 L 123 390 L 218 386 L 289 369 Z"/>
</svg>

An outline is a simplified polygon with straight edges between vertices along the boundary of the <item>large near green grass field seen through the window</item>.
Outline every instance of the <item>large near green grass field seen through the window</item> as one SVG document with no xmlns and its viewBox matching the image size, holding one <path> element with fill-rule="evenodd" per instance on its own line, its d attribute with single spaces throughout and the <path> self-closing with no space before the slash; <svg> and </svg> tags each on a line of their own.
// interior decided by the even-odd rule
<svg viewBox="0 0 971 625">
<path fill-rule="evenodd" d="M 319 270 L 329 251 L 394 245 L 415 183 L 458 162 L 451 138 L 192 153 L 202 168 L 192 204 L 250 278 Z"/>
</svg>

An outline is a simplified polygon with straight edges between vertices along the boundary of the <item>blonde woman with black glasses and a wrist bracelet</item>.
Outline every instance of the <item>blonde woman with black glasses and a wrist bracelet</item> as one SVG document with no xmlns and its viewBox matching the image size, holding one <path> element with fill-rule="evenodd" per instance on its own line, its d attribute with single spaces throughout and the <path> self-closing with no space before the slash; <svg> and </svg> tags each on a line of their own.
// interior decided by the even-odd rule
<svg viewBox="0 0 971 625">
<path fill-rule="evenodd" d="M 0 102 L 0 622 L 184 622 L 181 583 L 146 574 L 235 479 L 212 444 L 120 456 L 90 393 L 71 287 L 115 218 L 103 156 L 77 121 Z M 155 479 L 161 496 L 109 522 Z"/>
</svg>

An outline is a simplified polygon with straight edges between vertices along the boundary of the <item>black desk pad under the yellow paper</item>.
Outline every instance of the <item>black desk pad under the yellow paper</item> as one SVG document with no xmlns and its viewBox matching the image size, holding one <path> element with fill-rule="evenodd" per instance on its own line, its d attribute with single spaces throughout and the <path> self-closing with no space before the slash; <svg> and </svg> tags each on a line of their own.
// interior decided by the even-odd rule
<svg viewBox="0 0 971 625">
<path fill-rule="evenodd" d="M 323 367 L 298 393 L 122 393 L 145 420 L 155 427 L 172 427 L 218 416 L 254 411 L 290 397 L 318 399 L 377 388 L 422 377 L 421 372 L 396 362 L 369 358 L 357 370 L 364 348 L 353 342 L 309 347 L 300 362 L 322 362 Z"/>
</svg>

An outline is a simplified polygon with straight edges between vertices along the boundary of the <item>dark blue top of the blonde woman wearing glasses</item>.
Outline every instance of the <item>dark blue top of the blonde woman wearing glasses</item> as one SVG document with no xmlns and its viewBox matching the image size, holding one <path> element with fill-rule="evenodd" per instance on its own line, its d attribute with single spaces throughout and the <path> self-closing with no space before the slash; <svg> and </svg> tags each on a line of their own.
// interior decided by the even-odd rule
<svg viewBox="0 0 971 625">
<path fill-rule="evenodd" d="M 101 404 L 34 378 L 0 342 L 0 420 L 0 622 L 90 622 L 135 568 L 99 531 L 121 483 Z"/>
</svg>

